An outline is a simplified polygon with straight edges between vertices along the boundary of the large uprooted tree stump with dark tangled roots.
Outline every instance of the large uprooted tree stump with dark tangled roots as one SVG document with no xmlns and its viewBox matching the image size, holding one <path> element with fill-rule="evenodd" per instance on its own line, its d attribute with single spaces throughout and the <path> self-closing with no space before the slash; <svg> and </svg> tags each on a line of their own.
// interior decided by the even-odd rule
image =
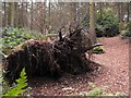
<svg viewBox="0 0 131 98">
<path fill-rule="evenodd" d="M 23 68 L 28 77 L 52 76 L 58 78 L 62 72 L 79 74 L 92 70 L 85 52 L 92 49 L 91 40 L 81 28 L 75 28 L 64 37 L 59 32 L 59 40 L 29 39 L 17 46 L 5 60 L 4 77 L 14 82 Z"/>
</svg>

